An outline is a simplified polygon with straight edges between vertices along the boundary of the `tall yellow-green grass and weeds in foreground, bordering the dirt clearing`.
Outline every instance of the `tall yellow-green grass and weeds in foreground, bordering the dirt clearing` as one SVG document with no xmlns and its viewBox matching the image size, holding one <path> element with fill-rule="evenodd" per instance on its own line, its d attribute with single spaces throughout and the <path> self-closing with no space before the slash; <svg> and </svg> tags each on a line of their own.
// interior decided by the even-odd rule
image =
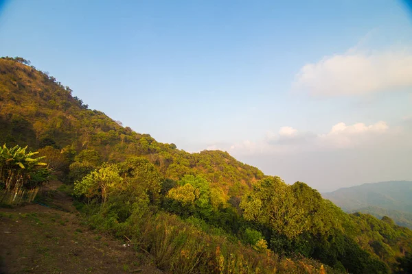
<svg viewBox="0 0 412 274">
<path fill-rule="evenodd" d="M 133 245 L 171 273 L 320 273 L 323 269 L 313 260 L 279 258 L 262 241 L 256 251 L 223 236 L 210 236 L 171 214 L 146 215 L 128 225 L 134 229 L 122 227 L 122 231 L 128 231 Z"/>
</svg>

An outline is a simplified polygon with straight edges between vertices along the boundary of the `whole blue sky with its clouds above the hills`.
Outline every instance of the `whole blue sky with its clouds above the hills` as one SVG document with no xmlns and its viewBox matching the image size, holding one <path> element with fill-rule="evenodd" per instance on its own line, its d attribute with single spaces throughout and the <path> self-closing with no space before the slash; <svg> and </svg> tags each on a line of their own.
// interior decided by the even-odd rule
<svg viewBox="0 0 412 274">
<path fill-rule="evenodd" d="M 411 7 L 0 0 L 0 55 L 136 132 L 326 192 L 412 180 Z"/>
</svg>

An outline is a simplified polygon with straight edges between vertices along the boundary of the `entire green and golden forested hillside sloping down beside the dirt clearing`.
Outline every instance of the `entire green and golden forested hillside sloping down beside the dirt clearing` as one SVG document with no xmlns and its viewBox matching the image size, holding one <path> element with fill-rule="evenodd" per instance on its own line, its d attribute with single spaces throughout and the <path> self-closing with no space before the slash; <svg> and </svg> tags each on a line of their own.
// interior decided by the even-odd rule
<svg viewBox="0 0 412 274">
<path fill-rule="evenodd" d="M 130 240 L 159 269 L 407 273 L 412 232 L 387 216 L 346 214 L 227 152 L 157 142 L 29 65 L 0 60 L 0 141 L 38 150 L 90 227 Z"/>
</svg>

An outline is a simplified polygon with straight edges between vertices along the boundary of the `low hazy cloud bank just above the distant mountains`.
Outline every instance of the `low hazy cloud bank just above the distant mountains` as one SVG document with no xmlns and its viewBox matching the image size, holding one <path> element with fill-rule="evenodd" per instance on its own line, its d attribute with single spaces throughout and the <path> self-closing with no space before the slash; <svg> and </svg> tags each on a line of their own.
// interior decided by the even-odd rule
<svg viewBox="0 0 412 274">
<path fill-rule="evenodd" d="M 321 191 L 367 182 L 412 179 L 412 119 L 398 125 L 336 123 L 320 133 L 282 127 L 227 151 L 242 162 Z M 286 129 L 287 128 L 287 129 Z"/>
</svg>

